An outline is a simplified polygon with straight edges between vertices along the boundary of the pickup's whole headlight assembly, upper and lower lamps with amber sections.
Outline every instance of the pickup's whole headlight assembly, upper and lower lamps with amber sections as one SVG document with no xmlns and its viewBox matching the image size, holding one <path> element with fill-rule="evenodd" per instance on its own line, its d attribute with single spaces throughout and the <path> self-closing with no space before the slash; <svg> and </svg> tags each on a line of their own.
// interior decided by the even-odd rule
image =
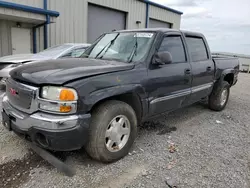
<svg viewBox="0 0 250 188">
<path fill-rule="evenodd" d="M 39 108 L 48 112 L 75 113 L 77 93 L 74 89 L 55 86 L 44 86 L 41 90 Z"/>
</svg>

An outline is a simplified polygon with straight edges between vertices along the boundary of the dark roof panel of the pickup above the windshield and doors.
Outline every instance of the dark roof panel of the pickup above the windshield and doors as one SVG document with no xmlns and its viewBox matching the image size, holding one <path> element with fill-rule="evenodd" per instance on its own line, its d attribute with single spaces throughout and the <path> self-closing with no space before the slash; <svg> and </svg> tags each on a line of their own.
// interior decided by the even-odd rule
<svg viewBox="0 0 250 188">
<path fill-rule="evenodd" d="M 192 31 L 185 31 L 185 30 L 178 30 L 178 29 L 169 29 L 169 28 L 144 28 L 144 29 L 131 29 L 131 30 L 120 30 L 120 31 L 114 31 L 114 32 L 162 32 L 166 33 L 169 31 L 174 31 L 174 32 L 182 32 L 185 35 L 194 35 L 194 36 L 202 36 L 203 34 L 197 33 L 197 32 L 192 32 Z"/>
</svg>

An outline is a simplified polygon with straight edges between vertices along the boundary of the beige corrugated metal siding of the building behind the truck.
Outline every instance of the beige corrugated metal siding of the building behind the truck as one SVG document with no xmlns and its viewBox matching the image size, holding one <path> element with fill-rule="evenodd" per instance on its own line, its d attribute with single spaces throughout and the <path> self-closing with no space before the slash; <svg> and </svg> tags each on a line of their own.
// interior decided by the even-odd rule
<svg viewBox="0 0 250 188">
<path fill-rule="evenodd" d="M 43 0 L 6 0 L 8 2 L 43 8 Z M 120 10 L 127 13 L 126 29 L 144 28 L 146 22 L 146 4 L 138 0 L 48 0 L 48 9 L 55 10 L 60 16 L 48 26 L 48 45 L 53 46 L 62 43 L 87 42 L 87 14 L 88 3 Z M 173 24 L 173 28 L 179 29 L 181 16 L 167 10 L 150 5 L 149 17 Z M 44 15 L 6 9 L 0 7 L 0 56 L 11 53 L 10 25 L 16 22 L 32 28 L 38 23 L 44 23 Z M 52 19 L 53 20 L 53 19 Z M 136 21 L 141 21 L 138 26 Z M 7 25 L 6 25 L 7 24 Z M 8 33 L 9 32 L 9 33 Z M 43 27 L 37 29 L 37 51 L 43 50 Z"/>
</svg>

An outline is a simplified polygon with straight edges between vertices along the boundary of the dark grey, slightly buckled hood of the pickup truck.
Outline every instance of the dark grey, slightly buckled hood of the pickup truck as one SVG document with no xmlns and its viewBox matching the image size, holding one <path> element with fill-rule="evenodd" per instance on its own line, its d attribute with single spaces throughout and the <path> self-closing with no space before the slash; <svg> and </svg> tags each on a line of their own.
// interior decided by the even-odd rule
<svg viewBox="0 0 250 188">
<path fill-rule="evenodd" d="M 84 77 L 130 70 L 134 64 L 100 59 L 60 59 L 29 63 L 10 72 L 13 79 L 32 85 L 63 85 Z"/>
</svg>

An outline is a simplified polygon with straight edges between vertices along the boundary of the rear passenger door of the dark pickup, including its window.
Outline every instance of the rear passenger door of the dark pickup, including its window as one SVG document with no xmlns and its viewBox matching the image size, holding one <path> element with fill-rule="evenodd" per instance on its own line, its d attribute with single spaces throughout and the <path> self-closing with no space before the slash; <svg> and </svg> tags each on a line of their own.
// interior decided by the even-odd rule
<svg viewBox="0 0 250 188">
<path fill-rule="evenodd" d="M 214 63 L 210 50 L 203 36 L 186 35 L 192 68 L 192 94 L 189 103 L 207 97 L 214 81 Z"/>
</svg>

